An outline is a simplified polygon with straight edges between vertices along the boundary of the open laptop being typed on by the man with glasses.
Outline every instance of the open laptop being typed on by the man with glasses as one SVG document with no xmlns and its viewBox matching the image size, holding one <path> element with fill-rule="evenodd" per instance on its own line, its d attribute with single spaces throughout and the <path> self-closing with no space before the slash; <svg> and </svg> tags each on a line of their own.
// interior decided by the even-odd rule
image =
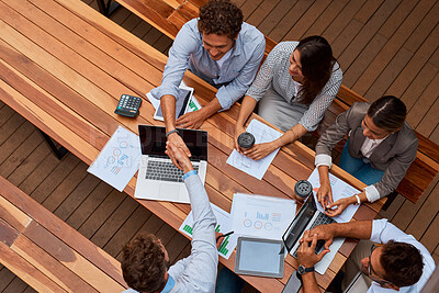
<svg viewBox="0 0 439 293">
<path fill-rule="evenodd" d="M 297 258 L 299 240 L 302 238 L 303 233 L 315 226 L 330 223 L 336 223 L 336 221 L 317 210 L 314 195 L 311 194 L 282 236 L 286 250 L 290 255 Z M 316 253 L 323 250 L 324 245 L 324 240 L 317 241 Z"/>
</svg>

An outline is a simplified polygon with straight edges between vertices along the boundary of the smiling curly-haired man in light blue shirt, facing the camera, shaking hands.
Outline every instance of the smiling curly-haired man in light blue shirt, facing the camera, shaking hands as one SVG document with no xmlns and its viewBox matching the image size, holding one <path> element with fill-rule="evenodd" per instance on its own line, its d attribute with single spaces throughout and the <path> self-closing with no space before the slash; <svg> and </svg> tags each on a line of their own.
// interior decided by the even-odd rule
<svg viewBox="0 0 439 293">
<path fill-rule="evenodd" d="M 251 84 L 266 48 L 263 34 L 243 22 L 243 12 L 228 0 L 209 1 L 200 8 L 199 16 L 177 34 L 161 84 L 151 90 L 153 97 L 160 100 L 168 142 L 189 156 L 176 126 L 199 128 L 214 113 L 229 109 Z M 187 69 L 217 92 L 209 104 L 176 121 L 176 97 Z"/>
</svg>

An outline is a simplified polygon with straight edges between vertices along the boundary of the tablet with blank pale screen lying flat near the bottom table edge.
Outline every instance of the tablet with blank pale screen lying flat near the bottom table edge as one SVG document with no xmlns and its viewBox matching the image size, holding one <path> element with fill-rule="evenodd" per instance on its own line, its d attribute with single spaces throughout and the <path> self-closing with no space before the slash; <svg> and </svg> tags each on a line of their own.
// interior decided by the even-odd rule
<svg viewBox="0 0 439 293">
<path fill-rule="evenodd" d="M 283 277 L 282 240 L 239 237 L 235 272 L 240 274 Z"/>
</svg>

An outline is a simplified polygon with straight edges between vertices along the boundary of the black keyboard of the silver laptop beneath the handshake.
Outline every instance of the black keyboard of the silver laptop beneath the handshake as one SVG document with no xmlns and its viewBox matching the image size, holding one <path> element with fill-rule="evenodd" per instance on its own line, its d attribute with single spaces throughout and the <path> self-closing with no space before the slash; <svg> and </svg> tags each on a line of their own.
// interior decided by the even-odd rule
<svg viewBox="0 0 439 293">
<path fill-rule="evenodd" d="M 199 170 L 199 166 L 194 165 L 193 169 Z M 148 160 L 146 169 L 146 179 L 161 180 L 170 182 L 183 182 L 184 172 L 168 161 Z"/>
</svg>

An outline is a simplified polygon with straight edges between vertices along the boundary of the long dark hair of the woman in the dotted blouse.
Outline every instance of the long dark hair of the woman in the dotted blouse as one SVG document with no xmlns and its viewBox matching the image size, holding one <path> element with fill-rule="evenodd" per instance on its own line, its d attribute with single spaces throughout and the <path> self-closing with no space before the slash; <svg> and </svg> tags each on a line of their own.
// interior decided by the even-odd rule
<svg viewBox="0 0 439 293">
<path fill-rule="evenodd" d="M 300 102 L 309 105 L 328 82 L 336 59 L 328 41 L 319 35 L 301 40 L 296 49 L 304 76 Z"/>
</svg>

